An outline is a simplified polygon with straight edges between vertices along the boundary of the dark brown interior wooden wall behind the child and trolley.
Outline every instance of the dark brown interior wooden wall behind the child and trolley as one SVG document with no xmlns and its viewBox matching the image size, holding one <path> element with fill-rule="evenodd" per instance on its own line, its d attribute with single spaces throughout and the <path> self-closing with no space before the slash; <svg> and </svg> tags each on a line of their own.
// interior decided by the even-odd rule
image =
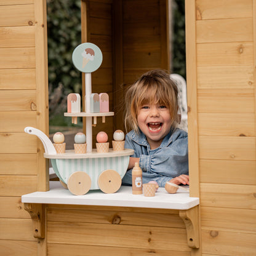
<svg viewBox="0 0 256 256">
<path fill-rule="evenodd" d="M 126 87 L 148 70 L 169 70 L 168 1 L 84 0 L 81 9 L 82 42 L 103 52 L 102 66 L 92 73 L 92 92 L 107 92 L 115 113 L 93 134 L 105 130 L 112 140 L 114 130 L 124 130 Z"/>
</svg>

